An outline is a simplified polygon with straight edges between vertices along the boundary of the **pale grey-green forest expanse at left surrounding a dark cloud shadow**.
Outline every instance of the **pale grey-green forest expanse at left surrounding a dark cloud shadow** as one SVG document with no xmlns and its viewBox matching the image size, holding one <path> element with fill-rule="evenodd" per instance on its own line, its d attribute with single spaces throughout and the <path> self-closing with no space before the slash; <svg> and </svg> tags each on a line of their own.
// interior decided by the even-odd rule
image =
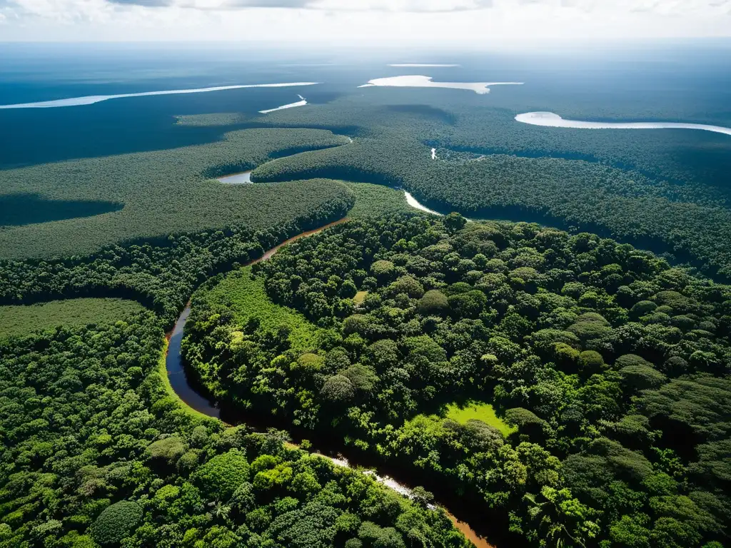
<svg viewBox="0 0 731 548">
<path fill-rule="evenodd" d="M 86 255 L 128 240 L 233 224 L 267 229 L 344 190 L 325 181 L 259 188 L 208 179 L 251 169 L 278 156 L 347 142 L 346 137 L 319 129 L 246 129 L 210 145 L 3 170 L 0 203 L 11 200 L 15 207 L 1 208 L 13 216 L 4 219 L 6 213 L 0 213 L 0 226 L 14 226 L 0 231 L 0 256 Z M 38 218 L 34 204 L 50 203 L 44 209 L 50 214 L 58 209 L 53 202 L 58 200 L 88 203 L 91 212 L 78 206 L 70 208 L 76 218 L 49 217 L 48 222 L 40 222 L 44 219 Z M 99 214 L 99 208 L 111 212 Z M 33 213 L 25 221 L 32 224 L 24 224 L 18 211 Z"/>
</svg>

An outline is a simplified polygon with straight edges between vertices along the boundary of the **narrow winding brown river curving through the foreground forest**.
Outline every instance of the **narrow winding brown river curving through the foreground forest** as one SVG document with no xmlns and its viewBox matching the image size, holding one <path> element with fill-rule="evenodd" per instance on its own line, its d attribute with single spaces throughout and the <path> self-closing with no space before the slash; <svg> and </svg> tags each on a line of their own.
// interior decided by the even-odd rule
<svg viewBox="0 0 731 548">
<path fill-rule="evenodd" d="M 325 229 L 335 227 L 336 225 L 344 223 L 346 221 L 348 221 L 348 218 L 342 218 L 339 221 L 334 221 L 330 224 L 326 224 L 324 227 L 320 227 L 314 230 L 308 230 L 307 232 L 302 232 L 301 234 L 295 237 L 291 237 L 289 238 L 289 240 L 285 240 L 283 243 L 280 243 L 279 246 L 276 246 L 274 248 L 271 248 L 269 251 L 266 251 L 265 254 L 262 254 L 262 256 L 260 256 L 260 258 L 251 261 L 249 265 L 253 265 L 254 263 L 270 259 L 279 250 L 279 248 L 286 246 L 287 244 L 292 243 L 295 240 L 317 234 L 317 232 L 322 232 Z M 175 321 L 175 327 L 173 328 L 173 330 L 167 334 L 167 338 L 168 340 L 170 340 L 170 343 L 167 346 L 167 357 L 165 357 L 165 369 L 167 370 L 167 378 L 170 380 L 170 386 L 173 388 L 173 392 L 178 395 L 178 397 L 183 403 L 186 404 L 186 406 L 189 406 L 190 408 L 204 415 L 211 416 L 216 419 L 221 419 L 221 409 L 214 406 L 208 400 L 208 398 L 202 396 L 199 392 L 197 392 L 197 389 L 191 384 L 191 382 L 187 378 L 185 368 L 183 367 L 183 359 L 181 356 L 181 343 L 183 342 L 183 330 L 185 329 L 186 322 L 188 321 L 188 317 L 190 316 L 190 311 L 191 308 L 189 302 L 186 305 L 185 310 L 183 310 L 183 313 L 181 313 L 178 320 Z M 338 457 L 328 457 L 326 454 L 322 453 L 318 454 L 320 454 L 322 457 L 327 458 L 328 460 L 331 460 L 334 464 L 338 466 L 352 468 L 349 460 L 346 460 L 340 454 L 338 454 Z M 410 498 L 411 489 L 409 489 L 409 487 L 407 487 L 402 482 L 398 482 L 390 476 L 382 473 L 376 472 L 369 473 L 368 475 L 376 479 L 377 482 L 384 484 L 387 487 L 395 490 L 396 492 L 401 493 L 401 495 Z M 495 548 L 493 544 L 488 543 L 486 539 L 479 536 L 477 532 L 473 528 L 471 528 L 470 525 L 468 525 L 466 522 L 458 520 L 444 506 L 439 506 L 441 506 L 442 509 L 447 512 L 447 515 L 450 517 L 450 520 L 452 520 L 452 523 L 454 523 L 455 527 L 461 530 L 464 536 L 466 536 L 466 538 L 469 539 L 477 548 Z"/>
</svg>

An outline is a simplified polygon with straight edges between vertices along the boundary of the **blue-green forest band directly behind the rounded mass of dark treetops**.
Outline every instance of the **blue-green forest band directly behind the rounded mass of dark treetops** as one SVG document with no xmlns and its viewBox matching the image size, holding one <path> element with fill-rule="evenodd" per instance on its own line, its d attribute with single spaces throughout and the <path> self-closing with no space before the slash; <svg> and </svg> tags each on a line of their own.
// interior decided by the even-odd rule
<svg viewBox="0 0 731 548">
<path fill-rule="evenodd" d="M 539 221 L 626 240 L 692 260 L 721 278 L 731 275 L 731 211 L 692 187 L 655 185 L 644 175 L 582 160 L 491 155 L 479 161 L 432 161 L 412 143 L 406 159 L 393 144 L 359 140 L 347 152 L 325 151 L 265 164 L 254 181 L 327 177 L 404 186 L 432 208 L 466 216 Z M 710 191 L 709 191 L 710 192 Z M 684 194 L 691 194 L 685 197 Z"/>
</svg>

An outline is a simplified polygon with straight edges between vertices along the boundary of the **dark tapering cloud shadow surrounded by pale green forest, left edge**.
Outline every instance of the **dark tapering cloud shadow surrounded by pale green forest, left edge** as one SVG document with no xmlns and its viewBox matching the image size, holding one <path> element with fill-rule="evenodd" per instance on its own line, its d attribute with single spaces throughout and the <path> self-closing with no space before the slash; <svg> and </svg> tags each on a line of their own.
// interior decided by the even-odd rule
<svg viewBox="0 0 731 548">
<path fill-rule="evenodd" d="M 40 194 L 7 194 L 0 196 L 0 227 L 47 223 L 77 217 L 92 217 L 119 211 L 124 204 L 101 200 L 48 199 Z"/>
</svg>

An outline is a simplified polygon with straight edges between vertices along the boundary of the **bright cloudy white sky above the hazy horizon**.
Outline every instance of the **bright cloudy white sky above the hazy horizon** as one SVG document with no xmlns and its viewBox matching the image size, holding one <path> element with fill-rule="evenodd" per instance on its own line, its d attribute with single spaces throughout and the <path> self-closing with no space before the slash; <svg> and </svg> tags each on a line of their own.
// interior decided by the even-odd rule
<svg viewBox="0 0 731 548">
<path fill-rule="evenodd" d="M 730 36 L 731 0 L 0 0 L 0 41 L 477 47 Z"/>
</svg>

